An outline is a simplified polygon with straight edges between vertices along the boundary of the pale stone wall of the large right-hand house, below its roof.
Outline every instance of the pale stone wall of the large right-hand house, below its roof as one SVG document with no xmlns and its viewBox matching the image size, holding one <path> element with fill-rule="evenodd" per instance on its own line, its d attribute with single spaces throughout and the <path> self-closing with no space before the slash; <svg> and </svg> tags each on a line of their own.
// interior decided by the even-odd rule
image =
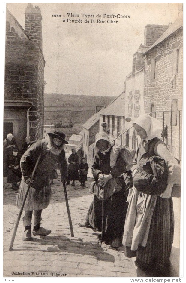
<svg viewBox="0 0 186 283">
<path fill-rule="evenodd" d="M 178 63 L 177 63 L 178 62 Z M 155 71 L 155 73 L 154 73 Z M 149 113 L 151 105 L 155 111 L 171 110 L 172 100 L 177 100 L 177 109 L 182 109 L 183 94 L 183 29 L 149 51 L 145 57 L 144 104 L 145 112 Z M 175 114 L 176 115 L 176 114 Z M 163 114 L 157 113 L 156 118 L 163 121 Z M 182 130 L 182 112 L 177 114 L 177 125 L 172 127 L 173 144 L 171 146 L 171 114 L 164 113 L 165 126 L 168 126 L 168 138 L 165 142 L 173 154 L 180 158 L 179 133 Z M 162 124 L 163 126 L 163 124 Z M 163 127 L 162 127 L 163 128 Z"/>
</svg>

